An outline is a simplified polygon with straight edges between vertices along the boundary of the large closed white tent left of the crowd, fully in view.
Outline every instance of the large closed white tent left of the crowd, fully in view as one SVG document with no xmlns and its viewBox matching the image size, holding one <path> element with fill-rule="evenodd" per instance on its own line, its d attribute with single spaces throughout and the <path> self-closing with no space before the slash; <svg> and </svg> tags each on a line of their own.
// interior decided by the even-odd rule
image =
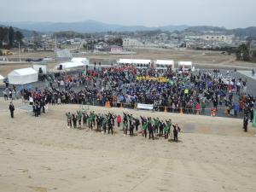
<svg viewBox="0 0 256 192">
<path fill-rule="evenodd" d="M 38 81 L 38 72 L 32 67 L 15 69 L 8 74 L 10 84 L 30 84 Z"/>
</svg>

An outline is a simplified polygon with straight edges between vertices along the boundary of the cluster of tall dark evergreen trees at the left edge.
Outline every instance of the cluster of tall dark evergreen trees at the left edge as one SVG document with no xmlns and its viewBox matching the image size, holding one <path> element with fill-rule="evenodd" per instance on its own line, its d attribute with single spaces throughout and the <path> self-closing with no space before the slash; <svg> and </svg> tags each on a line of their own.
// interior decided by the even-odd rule
<svg viewBox="0 0 256 192">
<path fill-rule="evenodd" d="M 22 44 L 24 38 L 22 32 L 16 31 L 12 26 L 0 27 L 0 48 L 11 49 L 18 47 L 18 44 Z"/>
</svg>

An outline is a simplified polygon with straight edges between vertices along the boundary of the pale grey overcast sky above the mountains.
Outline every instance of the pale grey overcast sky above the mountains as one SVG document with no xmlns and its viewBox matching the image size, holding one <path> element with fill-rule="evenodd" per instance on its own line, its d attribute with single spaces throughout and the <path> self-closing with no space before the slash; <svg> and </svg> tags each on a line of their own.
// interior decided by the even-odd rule
<svg viewBox="0 0 256 192">
<path fill-rule="evenodd" d="M 256 26 L 256 0 L 0 0 L 1 21 Z"/>
</svg>

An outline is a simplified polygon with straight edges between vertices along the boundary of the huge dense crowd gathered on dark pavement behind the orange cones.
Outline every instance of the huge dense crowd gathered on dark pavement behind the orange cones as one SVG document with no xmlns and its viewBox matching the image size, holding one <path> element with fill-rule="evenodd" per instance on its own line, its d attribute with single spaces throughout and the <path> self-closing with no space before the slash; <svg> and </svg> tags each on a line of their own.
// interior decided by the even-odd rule
<svg viewBox="0 0 256 192">
<path fill-rule="evenodd" d="M 160 79 L 164 77 L 163 79 Z M 154 104 L 154 110 L 210 114 L 215 108 L 234 117 L 245 114 L 253 118 L 255 96 L 247 94 L 247 79 L 236 78 L 229 71 L 172 71 L 155 68 L 101 67 L 84 73 L 62 74 L 38 90 L 21 90 L 25 101 L 90 103 L 134 108 L 136 103 Z"/>
</svg>

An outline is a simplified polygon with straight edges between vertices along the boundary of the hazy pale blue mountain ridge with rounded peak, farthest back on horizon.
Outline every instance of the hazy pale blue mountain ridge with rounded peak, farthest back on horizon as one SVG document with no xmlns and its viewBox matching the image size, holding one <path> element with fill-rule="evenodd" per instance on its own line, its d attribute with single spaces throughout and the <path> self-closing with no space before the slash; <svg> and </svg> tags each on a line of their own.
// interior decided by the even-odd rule
<svg viewBox="0 0 256 192">
<path fill-rule="evenodd" d="M 85 20 L 81 22 L 0 22 L 4 26 L 15 26 L 21 29 L 38 31 L 38 32 L 61 32 L 61 31 L 74 31 L 74 32 L 134 32 L 134 31 L 169 31 L 175 30 L 182 31 L 188 26 L 122 26 L 115 24 L 107 24 L 96 20 Z"/>
</svg>

